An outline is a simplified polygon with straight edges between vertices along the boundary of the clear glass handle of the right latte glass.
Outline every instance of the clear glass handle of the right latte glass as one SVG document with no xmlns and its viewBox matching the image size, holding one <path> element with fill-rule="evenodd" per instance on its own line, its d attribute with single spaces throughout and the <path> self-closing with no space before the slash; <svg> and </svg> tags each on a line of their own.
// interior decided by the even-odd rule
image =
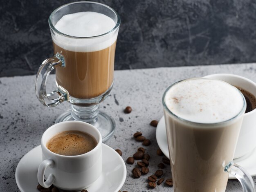
<svg viewBox="0 0 256 192">
<path fill-rule="evenodd" d="M 255 192 L 252 176 L 243 167 L 231 161 L 224 167 L 224 171 L 234 175 L 240 181 L 243 192 Z"/>
</svg>

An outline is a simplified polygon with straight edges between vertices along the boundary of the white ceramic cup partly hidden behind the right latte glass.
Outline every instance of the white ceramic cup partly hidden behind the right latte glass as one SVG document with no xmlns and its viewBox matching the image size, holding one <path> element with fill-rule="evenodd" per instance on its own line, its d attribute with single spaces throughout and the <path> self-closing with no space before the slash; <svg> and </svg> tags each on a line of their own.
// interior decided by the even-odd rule
<svg viewBox="0 0 256 192">
<path fill-rule="evenodd" d="M 256 83 L 245 77 L 233 75 L 233 74 L 212 74 L 204 76 L 206 78 L 213 78 L 223 80 L 231 85 L 245 89 L 256 96 Z M 236 145 L 236 151 L 234 154 L 234 159 L 245 156 L 252 152 L 256 147 L 256 109 L 248 112 L 244 115 L 242 127 L 238 137 L 238 142 Z"/>
</svg>

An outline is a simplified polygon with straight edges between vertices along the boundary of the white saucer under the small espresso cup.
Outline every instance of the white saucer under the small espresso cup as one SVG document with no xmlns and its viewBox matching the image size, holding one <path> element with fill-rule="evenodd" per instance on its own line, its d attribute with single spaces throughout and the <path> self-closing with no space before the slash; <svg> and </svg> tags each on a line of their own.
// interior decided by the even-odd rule
<svg viewBox="0 0 256 192">
<path fill-rule="evenodd" d="M 118 192 L 126 179 L 126 165 L 121 156 L 108 145 L 102 144 L 102 174 L 89 188 L 89 192 Z M 42 161 L 41 145 L 22 157 L 17 165 L 15 179 L 21 192 L 38 192 L 37 170 Z"/>
</svg>

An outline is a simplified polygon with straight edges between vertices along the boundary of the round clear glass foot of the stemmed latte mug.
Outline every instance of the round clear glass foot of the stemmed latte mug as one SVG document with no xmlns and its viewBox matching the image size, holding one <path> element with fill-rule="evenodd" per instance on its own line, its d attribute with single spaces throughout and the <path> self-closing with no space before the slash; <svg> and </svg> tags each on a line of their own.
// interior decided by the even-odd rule
<svg viewBox="0 0 256 192">
<path fill-rule="evenodd" d="M 98 117 L 97 121 L 93 122 L 87 122 L 92 124 L 94 127 L 96 127 L 102 136 L 102 142 L 107 141 L 115 131 L 115 121 L 112 117 L 108 116 L 106 113 L 103 113 L 101 111 L 98 111 Z M 67 112 L 61 114 L 56 118 L 55 123 L 60 123 L 63 121 L 74 121 L 76 119 L 72 116 L 72 109 L 67 110 Z M 81 120 L 79 120 L 81 121 Z M 86 121 L 85 121 L 86 122 Z"/>
</svg>

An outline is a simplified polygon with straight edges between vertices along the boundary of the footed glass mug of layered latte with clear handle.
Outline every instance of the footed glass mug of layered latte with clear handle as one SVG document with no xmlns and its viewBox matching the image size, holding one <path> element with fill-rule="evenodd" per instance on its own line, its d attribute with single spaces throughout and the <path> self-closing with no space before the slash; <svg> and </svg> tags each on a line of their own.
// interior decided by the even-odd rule
<svg viewBox="0 0 256 192">
<path fill-rule="evenodd" d="M 115 121 L 99 112 L 114 80 L 114 59 L 120 18 L 115 10 L 97 2 L 65 4 L 49 16 L 54 56 L 46 59 L 36 76 L 36 96 L 48 107 L 63 101 L 71 110 L 61 121 L 84 121 L 97 127 L 103 141 L 113 134 Z M 56 69 L 57 89 L 46 92 L 49 73 Z"/>
</svg>

